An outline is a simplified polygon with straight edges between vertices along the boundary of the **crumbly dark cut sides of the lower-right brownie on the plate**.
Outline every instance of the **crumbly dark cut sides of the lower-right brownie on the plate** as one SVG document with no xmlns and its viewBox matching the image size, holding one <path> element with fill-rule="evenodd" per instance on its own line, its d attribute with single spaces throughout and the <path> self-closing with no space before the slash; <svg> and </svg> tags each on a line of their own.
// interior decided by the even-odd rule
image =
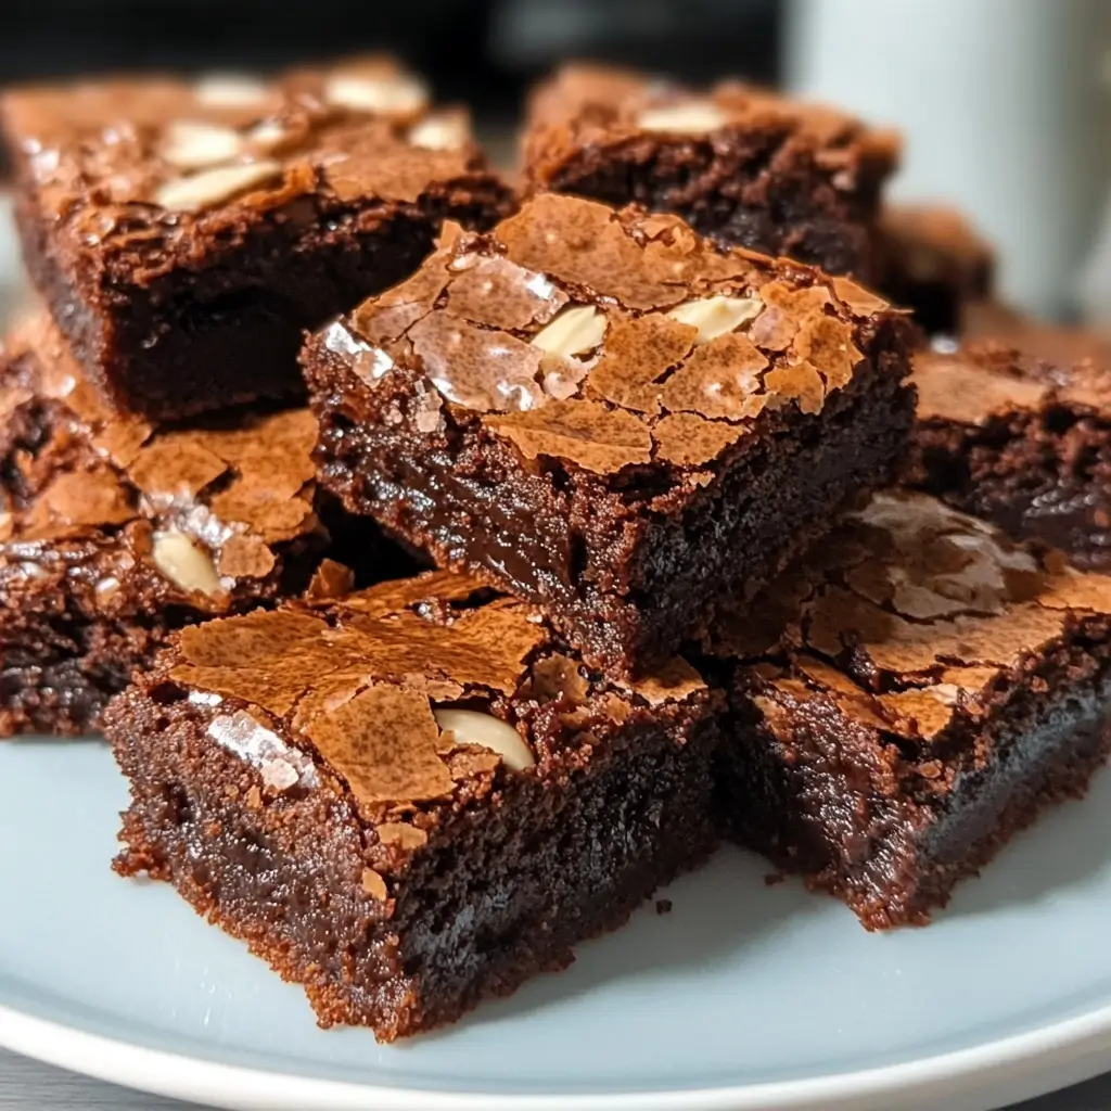
<svg viewBox="0 0 1111 1111">
<path fill-rule="evenodd" d="M 942 757 L 954 787 L 932 805 L 901 788 L 878 791 L 865 764 L 845 764 L 842 748 L 894 741 L 847 721 L 827 700 L 814 703 L 817 732 L 788 754 L 738 697 L 732 735 L 717 757 L 723 835 L 848 903 L 865 929 L 928 923 L 960 880 L 1048 807 L 1081 798 L 1107 762 L 1109 638 L 1107 621 L 1093 619 L 1069 643 L 1028 658 L 991 720 Z M 1035 691 L 1042 683 L 1051 695 Z M 981 748 L 989 755 L 978 762 Z"/>
</svg>

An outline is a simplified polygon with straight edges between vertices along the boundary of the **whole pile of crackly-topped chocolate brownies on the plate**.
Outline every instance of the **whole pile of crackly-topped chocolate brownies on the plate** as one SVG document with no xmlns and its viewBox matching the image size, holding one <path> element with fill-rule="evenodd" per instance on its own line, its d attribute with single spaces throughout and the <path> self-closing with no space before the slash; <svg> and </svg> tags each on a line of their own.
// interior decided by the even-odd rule
<svg viewBox="0 0 1111 1111">
<path fill-rule="evenodd" d="M 1105 759 L 1111 388 L 914 350 L 870 284 L 951 331 L 990 258 L 881 210 L 890 137 L 571 67 L 511 201 L 380 60 L 79 91 L 6 106 L 6 712 L 130 675 L 117 870 L 321 1023 L 451 1022 L 724 839 L 923 923 Z"/>
</svg>

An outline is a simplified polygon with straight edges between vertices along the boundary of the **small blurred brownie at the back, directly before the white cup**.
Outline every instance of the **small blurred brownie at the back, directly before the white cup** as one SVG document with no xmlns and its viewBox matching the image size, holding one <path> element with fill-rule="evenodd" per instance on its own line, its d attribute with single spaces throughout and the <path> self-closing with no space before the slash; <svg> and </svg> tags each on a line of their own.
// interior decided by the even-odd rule
<svg viewBox="0 0 1111 1111">
<path fill-rule="evenodd" d="M 930 336 L 960 336 L 969 306 L 991 296 L 995 253 L 955 209 L 885 207 L 880 256 L 883 294 Z"/>
</svg>

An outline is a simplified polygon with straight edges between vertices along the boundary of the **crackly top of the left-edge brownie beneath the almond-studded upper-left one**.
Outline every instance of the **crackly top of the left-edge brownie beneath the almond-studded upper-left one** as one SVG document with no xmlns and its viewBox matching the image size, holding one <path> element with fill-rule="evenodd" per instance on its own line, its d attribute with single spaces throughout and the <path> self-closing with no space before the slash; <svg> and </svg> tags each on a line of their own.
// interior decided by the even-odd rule
<svg viewBox="0 0 1111 1111">
<path fill-rule="evenodd" d="M 0 429 L 8 563 L 120 538 L 170 595 L 211 610 L 270 582 L 281 552 L 320 530 L 307 410 L 161 429 L 121 416 L 44 312 L 0 356 Z"/>
</svg>

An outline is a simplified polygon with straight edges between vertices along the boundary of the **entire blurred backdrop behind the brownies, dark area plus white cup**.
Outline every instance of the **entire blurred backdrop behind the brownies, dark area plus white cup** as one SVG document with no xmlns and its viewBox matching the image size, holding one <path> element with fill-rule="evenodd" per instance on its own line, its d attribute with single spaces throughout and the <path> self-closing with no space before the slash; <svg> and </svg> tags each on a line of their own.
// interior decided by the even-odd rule
<svg viewBox="0 0 1111 1111">
<path fill-rule="evenodd" d="M 511 158 L 524 89 L 568 57 L 741 74 L 904 131 L 900 200 L 955 203 L 1003 296 L 1111 327 L 1109 0 L 0 0 L 0 81 L 402 54 Z"/>
</svg>

